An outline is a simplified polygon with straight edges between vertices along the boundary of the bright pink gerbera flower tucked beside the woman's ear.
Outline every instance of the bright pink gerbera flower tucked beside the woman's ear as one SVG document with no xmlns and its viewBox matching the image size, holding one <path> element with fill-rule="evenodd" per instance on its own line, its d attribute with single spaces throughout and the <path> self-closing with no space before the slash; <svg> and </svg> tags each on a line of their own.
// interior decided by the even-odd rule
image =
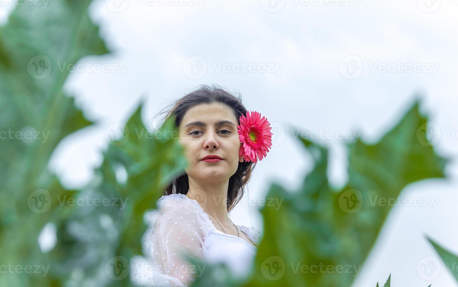
<svg viewBox="0 0 458 287">
<path fill-rule="evenodd" d="M 261 118 L 258 112 L 249 111 L 245 115 L 240 115 L 240 125 L 237 126 L 240 142 L 240 155 L 246 162 L 257 162 L 257 158 L 262 160 L 267 156 L 270 146 L 272 146 L 272 135 L 270 132 L 269 121 Z"/>
</svg>

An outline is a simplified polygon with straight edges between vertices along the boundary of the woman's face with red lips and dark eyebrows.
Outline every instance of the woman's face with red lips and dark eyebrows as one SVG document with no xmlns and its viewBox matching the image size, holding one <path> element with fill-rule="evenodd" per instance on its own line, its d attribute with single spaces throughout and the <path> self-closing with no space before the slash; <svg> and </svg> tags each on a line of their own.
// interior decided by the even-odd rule
<svg viewBox="0 0 458 287">
<path fill-rule="evenodd" d="M 213 182 L 229 179 L 237 171 L 239 161 L 243 162 L 239 157 L 237 119 L 224 104 L 203 103 L 189 108 L 179 132 L 179 141 L 189 162 L 185 172 L 194 179 Z M 207 155 L 217 155 L 222 160 L 202 161 Z"/>
</svg>

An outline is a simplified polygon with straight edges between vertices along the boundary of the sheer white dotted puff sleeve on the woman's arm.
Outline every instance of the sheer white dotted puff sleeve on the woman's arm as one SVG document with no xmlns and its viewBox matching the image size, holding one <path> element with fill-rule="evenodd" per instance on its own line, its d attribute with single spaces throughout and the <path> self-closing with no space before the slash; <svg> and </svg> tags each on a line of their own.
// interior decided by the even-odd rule
<svg viewBox="0 0 458 287">
<path fill-rule="evenodd" d="M 204 259 L 203 243 L 210 227 L 205 215 L 197 201 L 186 195 L 166 195 L 158 200 L 150 250 L 156 286 L 191 285 L 199 274 L 199 266 L 191 265 L 184 256 Z"/>
</svg>

